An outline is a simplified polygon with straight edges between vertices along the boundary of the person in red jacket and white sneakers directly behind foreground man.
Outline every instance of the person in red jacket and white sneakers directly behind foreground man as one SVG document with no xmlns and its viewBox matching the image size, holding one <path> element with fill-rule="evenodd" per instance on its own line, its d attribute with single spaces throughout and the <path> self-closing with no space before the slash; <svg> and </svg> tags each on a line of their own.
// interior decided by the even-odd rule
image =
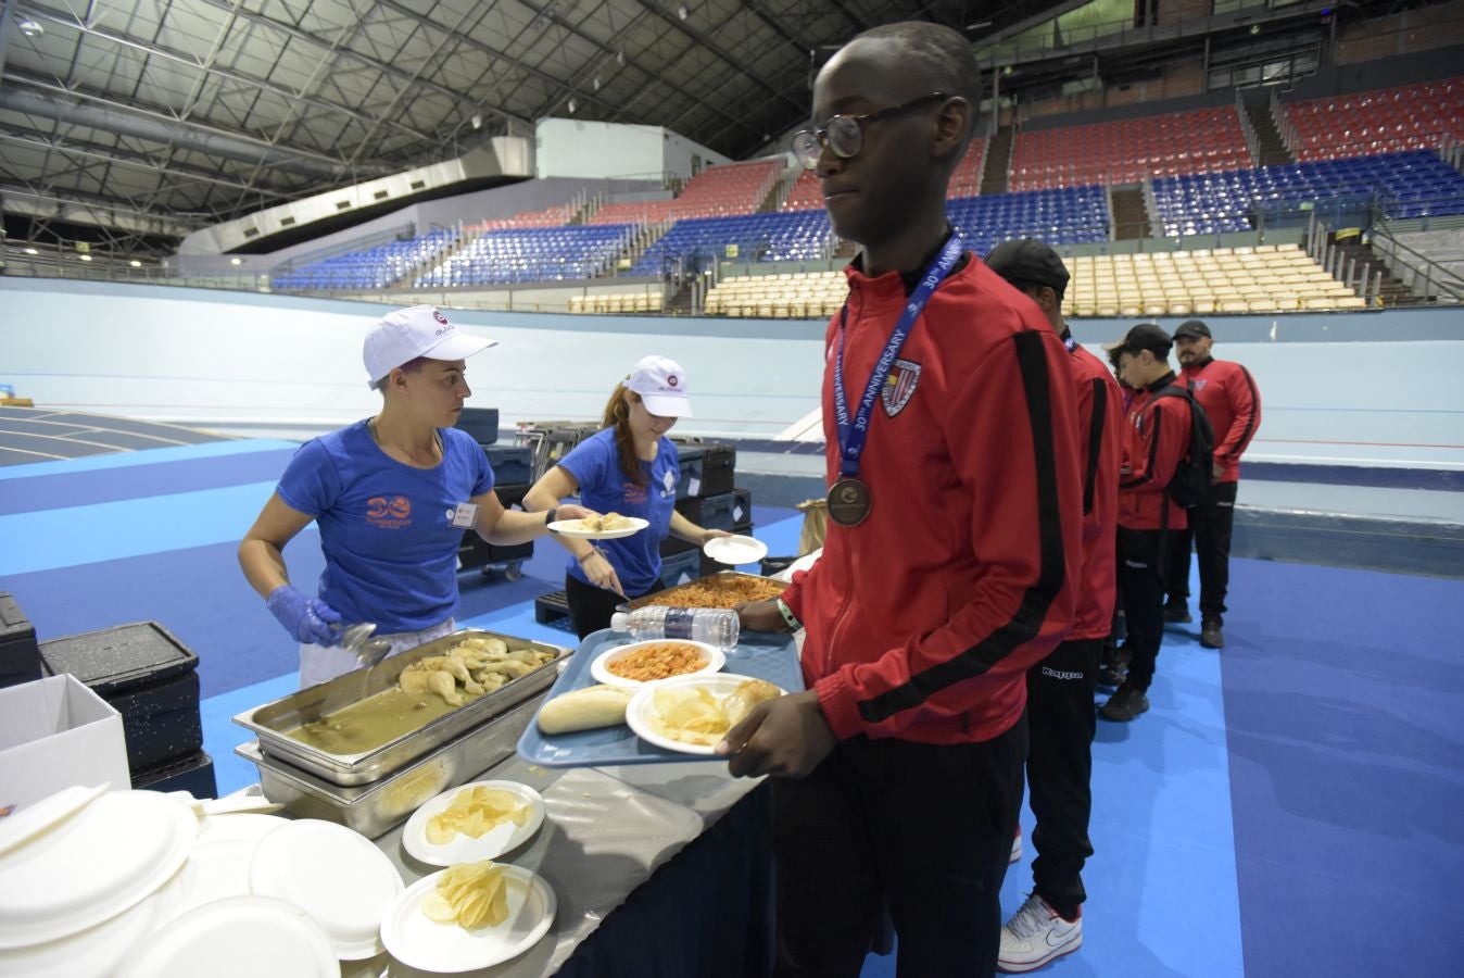
<svg viewBox="0 0 1464 978">
<path fill-rule="evenodd" d="M 1083 943 L 1088 892 L 1082 868 L 1094 854 L 1088 837 L 1094 694 L 1099 654 L 1113 630 L 1118 467 L 1127 419 L 1118 382 L 1102 360 L 1078 344 L 1063 319 L 1069 274 L 1057 252 L 1034 239 L 1006 242 L 987 255 L 987 265 L 1032 299 L 1067 346 L 1083 473 L 1078 616 L 1053 654 L 1026 672 L 1026 783 L 1037 815 L 1037 859 L 1032 893 L 1001 928 L 997 958 L 1001 971 L 1025 972 Z"/>
</svg>

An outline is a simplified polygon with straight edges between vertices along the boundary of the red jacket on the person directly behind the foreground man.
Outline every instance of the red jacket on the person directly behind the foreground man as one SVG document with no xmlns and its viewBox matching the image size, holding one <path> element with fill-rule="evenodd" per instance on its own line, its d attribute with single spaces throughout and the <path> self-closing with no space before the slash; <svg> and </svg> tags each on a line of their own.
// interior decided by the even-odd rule
<svg viewBox="0 0 1464 978">
<path fill-rule="evenodd" d="M 1078 394 L 1083 471 L 1083 567 L 1078 619 L 1069 640 L 1107 638 L 1117 594 L 1114 536 L 1118 530 L 1118 469 L 1129 419 L 1123 389 L 1102 360 L 1079 346 L 1067 357 Z"/>
</svg>

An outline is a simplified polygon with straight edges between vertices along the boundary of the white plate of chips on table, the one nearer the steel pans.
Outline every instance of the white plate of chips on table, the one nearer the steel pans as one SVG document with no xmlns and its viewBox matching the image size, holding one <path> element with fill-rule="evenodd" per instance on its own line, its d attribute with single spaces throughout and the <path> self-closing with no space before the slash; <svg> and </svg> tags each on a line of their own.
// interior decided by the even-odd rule
<svg viewBox="0 0 1464 978">
<path fill-rule="evenodd" d="M 529 785 L 477 780 L 429 799 L 401 830 L 401 845 L 429 865 L 493 859 L 529 842 L 545 820 L 545 799 Z"/>
</svg>

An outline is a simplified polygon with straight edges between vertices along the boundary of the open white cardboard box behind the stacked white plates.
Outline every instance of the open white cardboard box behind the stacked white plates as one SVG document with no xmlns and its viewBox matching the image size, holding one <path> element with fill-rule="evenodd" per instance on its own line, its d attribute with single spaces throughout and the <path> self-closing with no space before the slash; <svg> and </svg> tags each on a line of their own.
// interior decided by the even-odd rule
<svg viewBox="0 0 1464 978">
<path fill-rule="evenodd" d="M 0 690 L 0 807 L 102 783 L 132 785 L 117 710 L 70 675 Z"/>
</svg>

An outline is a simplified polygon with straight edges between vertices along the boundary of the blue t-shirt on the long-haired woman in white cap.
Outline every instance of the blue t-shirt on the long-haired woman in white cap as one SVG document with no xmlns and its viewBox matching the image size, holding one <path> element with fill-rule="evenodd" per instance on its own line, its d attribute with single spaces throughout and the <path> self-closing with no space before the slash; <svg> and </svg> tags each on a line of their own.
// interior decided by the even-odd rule
<svg viewBox="0 0 1464 978">
<path fill-rule="evenodd" d="M 660 542 L 671 533 L 671 514 L 676 507 L 676 480 L 681 477 L 681 460 L 676 445 L 669 438 L 657 442 L 656 460 L 641 461 L 641 469 L 650 477 L 647 488 L 640 488 L 621 471 L 621 457 L 615 448 L 615 429 L 606 428 L 584 439 L 559 460 L 559 467 L 580 483 L 580 502 L 596 512 L 619 512 L 622 517 L 640 517 L 650 523 L 640 533 L 619 540 L 596 540 L 605 550 L 621 587 L 627 594 L 644 594 L 660 580 Z M 571 556 L 568 574 L 586 584 L 580 564 Z"/>
</svg>

